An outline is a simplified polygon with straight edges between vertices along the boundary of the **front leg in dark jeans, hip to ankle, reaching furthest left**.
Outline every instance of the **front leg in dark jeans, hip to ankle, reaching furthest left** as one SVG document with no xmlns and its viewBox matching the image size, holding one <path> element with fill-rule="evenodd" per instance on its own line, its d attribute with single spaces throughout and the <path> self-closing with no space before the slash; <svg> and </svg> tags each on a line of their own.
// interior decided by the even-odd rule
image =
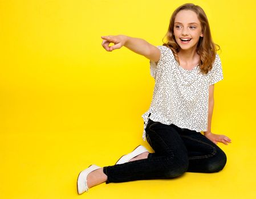
<svg viewBox="0 0 256 199">
<path fill-rule="evenodd" d="M 147 140 L 155 153 L 147 159 L 104 167 L 108 183 L 133 180 L 166 179 L 182 175 L 188 169 L 188 152 L 177 130 L 170 125 L 150 121 Z"/>
</svg>

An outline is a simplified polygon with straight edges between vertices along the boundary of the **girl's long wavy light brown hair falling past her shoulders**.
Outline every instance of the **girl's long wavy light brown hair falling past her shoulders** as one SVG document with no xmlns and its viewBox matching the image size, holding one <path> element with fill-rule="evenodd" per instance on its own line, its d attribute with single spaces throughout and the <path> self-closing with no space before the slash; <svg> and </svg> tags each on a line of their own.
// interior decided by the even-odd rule
<svg viewBox="0 0 256 199">
<path fill-rule="evenodd" d="M 178 52 L 180 51 L 180 46 L 177 44 L 176 39 L 174 37 L 174 19 L 176 15 L 181 10 L 192 10 L 197 14 L 198 19 L 201 22 L 203 37 L 200 37 L 196 52 L 200 55 L 200 70 L 203 74 L 207 74 L 213 67 L 213 63 L 216 57 L 216 52 L 220 49 L 220 46 L 213 43 L 212 35 L 210 34 L 210 26 L 208 19 L 204 10 L 200 6 L 194 5 L 193 3 L 186 3 L 181 5 L 176 10 L 174 10 L 169 23 L 168 32 L 165 34 L 164 38 L 166 38 L 166 42 L 164 42 L 164 38 L 162 39 L 162 45 L 172 49 L 173 55 L 178 61 Z M 218 47 L 218 48 L 217 48 Z"/>
</svg>

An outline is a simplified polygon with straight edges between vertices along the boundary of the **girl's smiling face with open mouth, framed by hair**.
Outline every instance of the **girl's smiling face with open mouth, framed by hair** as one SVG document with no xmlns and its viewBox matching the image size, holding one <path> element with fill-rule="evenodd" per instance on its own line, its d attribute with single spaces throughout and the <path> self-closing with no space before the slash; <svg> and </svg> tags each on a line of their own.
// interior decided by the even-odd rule
<svg viewBox="0 0 256 199">
<path fill-rule="evenodd" d="M 174 19 L 174 36 L 183 50 L 196 49 L 202 34 L 200 20 L 192 10 L 181 10 Z"/>
</svg>

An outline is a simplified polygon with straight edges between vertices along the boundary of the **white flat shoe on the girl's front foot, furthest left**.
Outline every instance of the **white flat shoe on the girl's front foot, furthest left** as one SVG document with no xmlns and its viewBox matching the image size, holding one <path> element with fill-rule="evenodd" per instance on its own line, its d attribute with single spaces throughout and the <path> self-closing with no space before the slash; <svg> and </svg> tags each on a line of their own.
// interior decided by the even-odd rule
<svg viewBox="0 0 256 199">
<path fill-rule="evenodd" d="M 88 167 L 87 169 L 84 169 L 83 171 L 81 171 L 78 175 L 78 194 L 82 194 L 84 192 L 88 192 L 89 188 L 87 186 L 87 176 L 89 173 L 91 173 L 92 171 L 95 171 L 96 169 L 99 169 L 101 167 L 92 164 L 90 167 Z"/>
</svg>

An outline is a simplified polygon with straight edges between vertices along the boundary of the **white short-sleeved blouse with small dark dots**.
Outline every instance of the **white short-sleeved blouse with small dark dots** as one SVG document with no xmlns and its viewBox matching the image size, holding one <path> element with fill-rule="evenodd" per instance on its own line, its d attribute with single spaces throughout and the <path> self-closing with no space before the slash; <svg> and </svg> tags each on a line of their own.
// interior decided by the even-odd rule
<svg viewBox="0 0 256 199">
<path fill-rule="evenodd" d="M 209 85 L 223 79 L 221 60 L 218 55 L 213 68 L 203 74 L 199 65 L 192 70 L 182 68 L 170 48 L 157 45 L 160 49 L 158 63 L 149 61 L 151 76 L 155 78 L 153 99 L 144 120 L 143 139 L 148 119 L 165 125 L 174 124 L 197 132 L 206 131 L 208 126 Z"/>
</svg>

